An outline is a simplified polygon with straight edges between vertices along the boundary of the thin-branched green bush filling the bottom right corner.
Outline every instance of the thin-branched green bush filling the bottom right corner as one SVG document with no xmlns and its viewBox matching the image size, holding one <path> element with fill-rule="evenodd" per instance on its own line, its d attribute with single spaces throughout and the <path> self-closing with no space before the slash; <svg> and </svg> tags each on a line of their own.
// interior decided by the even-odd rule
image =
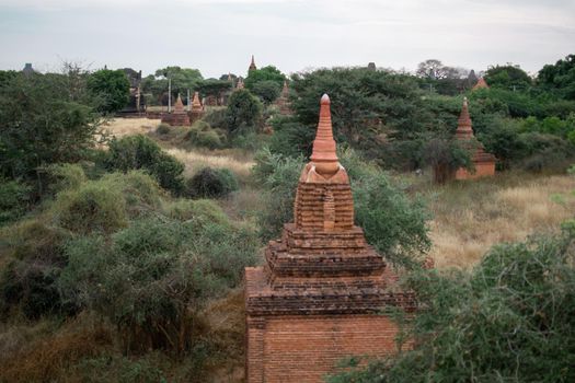
<svg viewBox="0 0 575 383">
<path fill-rule="evenodd" d="M 422 310 L 400 328 L 414 349 L 329 381 L 574 381 L 573 240 L 496 245 L 469 272 L 412 272 L 405 287 Z"/>
</svg>

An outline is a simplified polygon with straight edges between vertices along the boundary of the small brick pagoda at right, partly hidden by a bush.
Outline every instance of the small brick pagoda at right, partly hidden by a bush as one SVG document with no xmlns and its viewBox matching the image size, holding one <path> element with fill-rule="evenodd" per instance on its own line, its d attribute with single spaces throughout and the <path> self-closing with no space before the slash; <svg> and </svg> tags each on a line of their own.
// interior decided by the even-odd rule
<svg viewBox="0 0 575 383">
<path fill-rule="evenodd" d="M 458 169 L 456 172 L 456 179 L 473 179 L 495 175 L 495 155 L 485 152 L 483 144 L 479 142 L 473 135 L 467 97 L 463 98 L 463 106 L 461 108 L 461 115 L 458 119 L 456 138 L 463 146 L 471 146 L 472 142 L 473 149 L 471 150 L 474 150 L 474 153 L 471 160 L 473 161 L 473 165 L 475 167 L 474 173 L 470 173 L 464 167 Z"/>
</svg>

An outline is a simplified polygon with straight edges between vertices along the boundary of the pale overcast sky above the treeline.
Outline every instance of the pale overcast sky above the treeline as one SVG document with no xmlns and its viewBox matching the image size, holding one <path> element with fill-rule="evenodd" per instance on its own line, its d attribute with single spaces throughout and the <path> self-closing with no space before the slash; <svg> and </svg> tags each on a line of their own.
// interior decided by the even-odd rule
<svg viewBox="0 0 575 383">
<path fill-rule="evenodd" d="M 575 54 L 575 0 L 0 0 L 0 69 L 414 70 L 437 58 L 537 72 Z"/>
</svg>

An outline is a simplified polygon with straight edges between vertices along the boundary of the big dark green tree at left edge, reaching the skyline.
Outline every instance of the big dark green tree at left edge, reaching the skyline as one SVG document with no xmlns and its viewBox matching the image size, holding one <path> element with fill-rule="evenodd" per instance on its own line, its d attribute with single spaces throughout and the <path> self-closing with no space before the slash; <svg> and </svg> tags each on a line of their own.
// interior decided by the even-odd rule
<svg viewBox="0 0 575 383">
<path fill-rule="evenodd" d="M 1 175 L 35 177 L 42 192 L 42 169 L 85 158 L 95 144 L 100 116 L 82 90 L 83 78 L 34 73 L 0 88 Z"/>
</svg>

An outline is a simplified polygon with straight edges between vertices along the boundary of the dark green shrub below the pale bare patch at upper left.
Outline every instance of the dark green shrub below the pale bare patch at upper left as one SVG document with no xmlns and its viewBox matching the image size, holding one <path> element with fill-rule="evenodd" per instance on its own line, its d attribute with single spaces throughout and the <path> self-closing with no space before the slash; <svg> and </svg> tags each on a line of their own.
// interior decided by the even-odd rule
<svg viewBox="0 0 575 383">
<path fill-rule="evenodd" d="M 112 140 L 106 165 L 110 170 L 123 172 L 145 170 L 158 179 L 161 187 L 175 194 L 180 194 L 184 187 L 184 164 L 142 135 Z"/>
</svg>

